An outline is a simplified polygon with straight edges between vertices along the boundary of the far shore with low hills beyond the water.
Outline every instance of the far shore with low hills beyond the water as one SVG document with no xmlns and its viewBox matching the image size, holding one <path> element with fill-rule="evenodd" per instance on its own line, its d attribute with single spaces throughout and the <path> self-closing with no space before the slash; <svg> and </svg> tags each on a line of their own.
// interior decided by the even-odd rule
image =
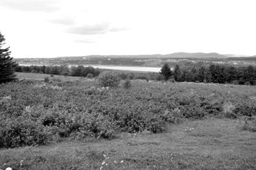
<svg viewBox="0 0 256 170">
<path fill-rule="evenodd" d="M 69 66 L 151 66 L 159 67 L 164 62 L 217 62 L 226 64 L 255 64 L 256 56 L 234 57 L 219 53 L 172 53 L 167 55 L 87 55 L 55 58 L 23 58 L 15 59 L 18 64 L 27 65 L 69 65 Z"/>
</svg>

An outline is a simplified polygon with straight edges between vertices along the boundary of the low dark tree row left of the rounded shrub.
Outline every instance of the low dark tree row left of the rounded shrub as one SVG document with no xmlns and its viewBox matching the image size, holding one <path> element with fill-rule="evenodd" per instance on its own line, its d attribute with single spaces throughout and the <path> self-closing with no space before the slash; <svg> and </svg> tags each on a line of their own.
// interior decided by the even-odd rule
<svg viewBox="0 0 256 170">
<path fill-rule="evenodd" d="M 42 73 L 51 75 L 69 75 L 75 77 L 96 77 L 100 74 L 98 68 L 92 66 L 16 66 L 16 72 L 24 73 Z"/>
</svg>

